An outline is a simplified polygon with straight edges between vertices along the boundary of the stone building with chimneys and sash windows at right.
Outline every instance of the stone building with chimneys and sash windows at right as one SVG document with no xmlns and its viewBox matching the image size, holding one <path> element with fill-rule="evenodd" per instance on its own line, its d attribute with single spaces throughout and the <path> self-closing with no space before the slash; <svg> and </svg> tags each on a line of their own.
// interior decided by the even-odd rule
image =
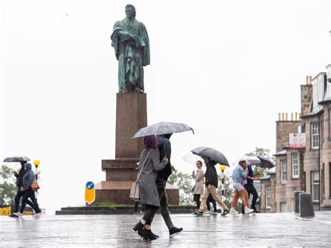
<svg viewBox="0 0 331 248">
<path fill-rule="evenodd" d="M 331 65 L 326 69 L 300 86 L 299 115 L 279 114 L 276 166 L 261 179 L 262 212 L 293 212 L 299 190 L 311 194 L 315 210 L 331 210 Z M 290 133 L 304 133 L 304 147 L 291 145 Z"/>
</svg>

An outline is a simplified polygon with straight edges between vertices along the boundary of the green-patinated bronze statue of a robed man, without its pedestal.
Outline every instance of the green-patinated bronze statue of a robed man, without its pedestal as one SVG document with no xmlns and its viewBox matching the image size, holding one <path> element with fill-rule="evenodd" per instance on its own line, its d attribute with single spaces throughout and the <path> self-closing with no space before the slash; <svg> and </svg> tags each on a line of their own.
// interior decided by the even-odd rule
<svg viewBox="0 0 331 248">
<path fill-rule="evenodd" d="M 125 7 L 126 17 L 114 25 L 112 47 L 119 61 L 119 93 L 144 92 L 144 68 L 149 64 L 149 38 L 145 25 L 135 19 L 135 6 Z"/>
</svg>

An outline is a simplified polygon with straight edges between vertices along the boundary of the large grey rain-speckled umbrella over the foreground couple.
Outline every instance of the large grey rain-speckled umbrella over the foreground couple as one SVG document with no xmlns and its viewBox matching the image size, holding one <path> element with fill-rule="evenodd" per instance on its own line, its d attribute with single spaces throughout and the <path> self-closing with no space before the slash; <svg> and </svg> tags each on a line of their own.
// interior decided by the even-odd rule
<svg viewBox="0 0 331 248">
<path fill-rule="evenodd" d="M 159 122 L 151 126 L 146 126 L 143 127 L 142 129 L 139 129 L 139 131 L 135 133 L 133 138 L 140 138 L 151 135 L 161 136 L 163 134 L 182 133 L 186 131 L 192 131 L 194 134 L 194 130 L 190 126 L 187 126 L 184 123 Z"/>
</svg>

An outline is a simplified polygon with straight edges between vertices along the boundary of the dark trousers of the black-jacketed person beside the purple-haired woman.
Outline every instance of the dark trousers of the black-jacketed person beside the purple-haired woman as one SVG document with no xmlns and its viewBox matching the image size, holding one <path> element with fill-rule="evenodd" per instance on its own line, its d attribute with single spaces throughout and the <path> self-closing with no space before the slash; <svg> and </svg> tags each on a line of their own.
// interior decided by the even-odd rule
<svg viewBox="0 0 331 248">
<path fill-rule="evenodd" d="M 165 225 L 168 226 L 168 229 L 171 229 L 174 228 L 175 226 L 174 224 L 172 224 L 168 209 L 168 194 L 167 191 L 165 191 L 166 184 L 167 184 L 167 180 L 163 180 L 163 179 L 156 180 L 156 187 L 157 187 L 157 191 L 159 192 L 159 198 L 160 198 L 161 214 L 165 222 Z"/>
</svg>

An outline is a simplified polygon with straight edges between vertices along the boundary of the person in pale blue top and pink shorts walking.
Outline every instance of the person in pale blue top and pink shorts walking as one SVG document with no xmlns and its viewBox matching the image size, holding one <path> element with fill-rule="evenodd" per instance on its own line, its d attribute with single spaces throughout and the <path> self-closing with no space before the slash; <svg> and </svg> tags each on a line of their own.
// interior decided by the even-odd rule
<svg viewBox="0 0 331 248">
<path fill-rule="evenodd" d="M 245 171 L 246 169 L 247 161 L 242 160 L 239 161 L 239 165 L 233 170 L 233 189 L 235 189 L 235 194 L 233 196 L 233 200 L 231 201 L 231 210 L 230 214 L 238 214 L 238 212 L 235 210 L 235 205 L 237 205 L 237 199 L 240 197 L 242 198 L 242 204 L 244 205 L 244 213 L 250 214 L 254 210 L 249 208 L 249 200 L 247 198 L 247 191 L 244 188 L 244 184 L 246 184 L 246 176 L 247 173 Z"/>
</svg>

